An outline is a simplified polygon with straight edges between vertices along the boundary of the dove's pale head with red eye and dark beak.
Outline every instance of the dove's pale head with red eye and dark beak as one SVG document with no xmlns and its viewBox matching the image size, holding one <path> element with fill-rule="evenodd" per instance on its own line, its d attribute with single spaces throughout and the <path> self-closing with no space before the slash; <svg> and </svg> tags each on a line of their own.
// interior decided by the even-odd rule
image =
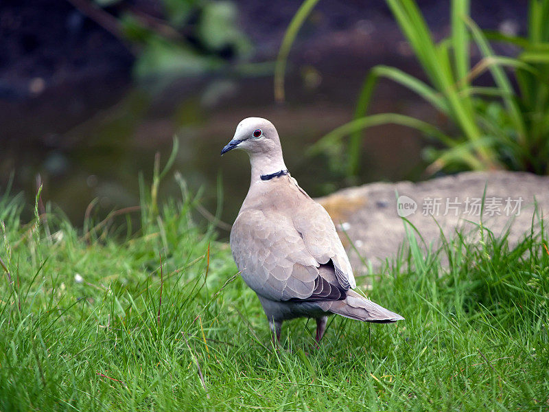
<svg viewBox="0 0 549 412">
<path fill-rule="evenodd" d="M 277 129 L 261 117 L 248 117 L 238 124 L 233 139 L 221 150 L 221 154 L 232 149 L 245 150 L 250 157 L 282 155 Z"/>
</svg>

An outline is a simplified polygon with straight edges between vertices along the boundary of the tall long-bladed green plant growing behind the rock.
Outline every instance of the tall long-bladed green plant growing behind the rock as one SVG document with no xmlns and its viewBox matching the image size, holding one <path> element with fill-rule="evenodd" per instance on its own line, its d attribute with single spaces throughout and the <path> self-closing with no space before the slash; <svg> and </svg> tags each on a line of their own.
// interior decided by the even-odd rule
<svg viewBox="0 0 549 412">
<path fill-rule="evenodd" d="M 281 43 L 274 73 L 274 95 L 279 102 L 284 100 L 290 48 L 317 2 L 303 0 Z M 452 0 L 449 34 L 440 41 L 435 40 L 417 1 L 386 3 L 423 76 L 416 78 L 386 65 L 373 67 L 358 93 L 353 120 L 325 135 L 309 149 L 309 155 L 329 154 L 335 159 L 331 162 L 335 172 L 357 176 L 366 137 L 363 131 L 398 124 L 421 131 L 434 143 L 424 151 L 430 163 L 426 170 L 429 174 L 442 169 L 454 172 L 494 168 L 548 174 L 549 0 L 528 1 L 528 34 L 524 37 L 483 32 L 471 19 L 471 1 Z M 519 53 L 513 58 L 498 56 L 491 41 L 514 45 Z M 471 59 L 471 50 L 475 49 L 481 56 L 478 61 Z M 489 87 L 479 85 L 477 78 L 482 73 L 489 73 Z M 452 126 L 443 130 L 437 124 L 402 113 L 369 114 L 379 79 L 417 93 Z M 344 141 L 347 136 L 348 143 Z"/>
</svg>

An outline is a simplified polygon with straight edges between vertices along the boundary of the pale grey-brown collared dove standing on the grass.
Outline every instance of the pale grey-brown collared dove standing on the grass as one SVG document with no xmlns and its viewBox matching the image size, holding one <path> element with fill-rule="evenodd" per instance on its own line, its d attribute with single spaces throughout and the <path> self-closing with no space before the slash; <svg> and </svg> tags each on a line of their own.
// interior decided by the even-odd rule
<svg viewBox="0 0 549 412">
<path fill-rule="evenodd" d="M 352 290 L 355 277 L 334 222 L 290 176 L 277 129 L 248 117 L 221 154 L 234 148 L 248 152 L 252 179 L 231 229 L 231 250 L 277 341 L 282 322 L 296 317 L 316 319 L 317 342 L 329 314 L 376 323 L 404 319 Z"/>
</svg>

